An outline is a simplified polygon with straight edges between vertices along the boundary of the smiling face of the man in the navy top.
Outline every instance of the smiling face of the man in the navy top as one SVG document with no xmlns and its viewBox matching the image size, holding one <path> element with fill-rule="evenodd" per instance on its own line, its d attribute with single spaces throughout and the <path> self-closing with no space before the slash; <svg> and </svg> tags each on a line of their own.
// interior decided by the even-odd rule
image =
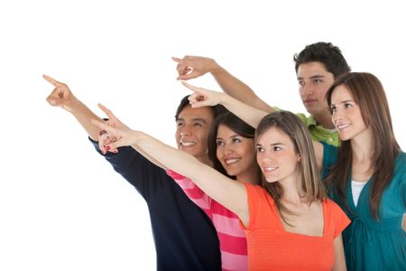
<svg viewBox="0 0 406 271">
<path fill-rule="evenodd" d="M 178 148 L 192 154 L 198 160 L 208 159 L 208 132 L 213 122 L 210 107 L 184 107 L 176 120 Z"/>
</svg>

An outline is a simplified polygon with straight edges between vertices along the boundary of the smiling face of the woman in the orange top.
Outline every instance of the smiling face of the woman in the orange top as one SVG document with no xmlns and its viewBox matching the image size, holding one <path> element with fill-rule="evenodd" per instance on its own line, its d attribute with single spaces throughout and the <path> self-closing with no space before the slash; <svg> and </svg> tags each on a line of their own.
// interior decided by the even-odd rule
<svg viewBox="0 0 406 271">
<path fill-rule="evenodd" d="M 300 154 L 297 154 L 289 135 L 272 126 L 258 137 L 256 149 L 256 160 L 266 182 L 295 182 Z"/>
</svg>

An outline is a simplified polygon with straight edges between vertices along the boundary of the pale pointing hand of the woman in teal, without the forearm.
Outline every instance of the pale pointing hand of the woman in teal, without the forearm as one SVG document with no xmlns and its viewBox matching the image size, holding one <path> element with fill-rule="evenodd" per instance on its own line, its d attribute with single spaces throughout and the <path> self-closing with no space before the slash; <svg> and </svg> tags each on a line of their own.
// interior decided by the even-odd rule
<svg viewBox="0 0 406 271">
<path fill-rule="evenodd" d="M 183 86 L 192 90 L 194 93 L 189 96 L 190 106 L 197 107 L 214 107 L 221 104 L 225 94 L 213 90 L 198 88 L 182 81 Z"/>
</svg>

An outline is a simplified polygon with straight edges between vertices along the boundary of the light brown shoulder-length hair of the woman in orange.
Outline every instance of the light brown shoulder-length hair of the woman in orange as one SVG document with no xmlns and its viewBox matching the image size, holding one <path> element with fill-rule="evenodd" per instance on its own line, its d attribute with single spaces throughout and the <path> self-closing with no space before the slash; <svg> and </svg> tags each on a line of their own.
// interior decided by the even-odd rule
<svg viewBox="0 0 406 271">
<path fill-rule="evenodd" d="M 273 112 L 263 117 L 256 128 L 255 145 L 258 142 L 258 138 L 272 127 L 289 135 L 291 142 L 295 146 L 296 153 L 300 154 L 301 158 L 298 163 L 300 167 L 300 184 L 305 192 L 304 198 L 306 201 L 311 203 L 313 201 L 325 200 L 327 198 L 326 191 L 318 173 L 313 142 L 311 141 L 308 127 L 304 125 L 299 117 L 289 111 Z M 281 219 L 288 223 L 283 213 L 295 213 L 281 203 L 284 193 L 281 184 L 279 182 L 266 182 L 262 174 L 261 186 L 272 196 L 278 210 L 280 210 Z"/>
</svg>

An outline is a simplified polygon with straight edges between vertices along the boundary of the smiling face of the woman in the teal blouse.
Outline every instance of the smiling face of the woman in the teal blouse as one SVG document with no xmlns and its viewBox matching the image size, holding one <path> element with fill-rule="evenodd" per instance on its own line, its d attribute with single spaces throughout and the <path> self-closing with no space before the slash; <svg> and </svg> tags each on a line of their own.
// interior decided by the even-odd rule
<svg viewBox="0 0 406 271">
<path fill-rule="evenodd" d="M 342 141 L 363 135 L 367 130 L 360 107 L 345 86 L 340 85 L 334 89 L 330 108 L 334 126 Z"/>
</svg>

